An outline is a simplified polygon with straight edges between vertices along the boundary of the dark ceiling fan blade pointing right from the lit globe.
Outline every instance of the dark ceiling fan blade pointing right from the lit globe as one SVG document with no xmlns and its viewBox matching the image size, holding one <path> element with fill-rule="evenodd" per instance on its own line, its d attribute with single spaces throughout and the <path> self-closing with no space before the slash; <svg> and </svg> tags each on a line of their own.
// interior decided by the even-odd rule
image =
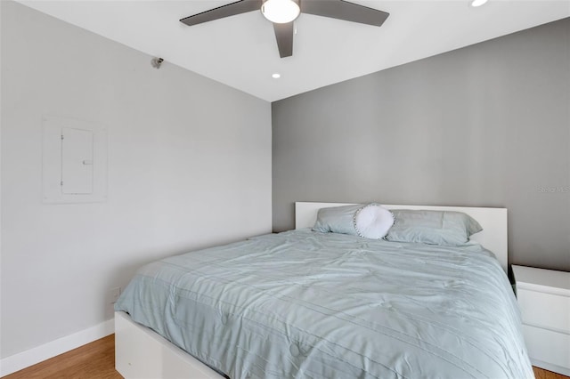
<svg viewBox="0 0 570 379">
<path fill-rule="evenodd" d="M 381 26 L 390 13 L 344 0 L 305 0 L 300 2 L 301 12 L 332 19 Z"/>
</svg>

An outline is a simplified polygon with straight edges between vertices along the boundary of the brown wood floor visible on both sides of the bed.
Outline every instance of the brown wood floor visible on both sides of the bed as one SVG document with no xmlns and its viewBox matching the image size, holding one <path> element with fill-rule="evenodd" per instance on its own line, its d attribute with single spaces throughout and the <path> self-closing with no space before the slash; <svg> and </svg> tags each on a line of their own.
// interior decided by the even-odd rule
<svg viewBox="0 0 570 379">
<path fill-rule="evenodd" d="M 533 367 L 536 379 L 570 379 Z M 52 359 L 24 368 L 3 379 L 122 379 L 115 371 L 115 335 L 78 347 Z M 158 379 L 158 378 L 157 378 Z"/>
</svg>

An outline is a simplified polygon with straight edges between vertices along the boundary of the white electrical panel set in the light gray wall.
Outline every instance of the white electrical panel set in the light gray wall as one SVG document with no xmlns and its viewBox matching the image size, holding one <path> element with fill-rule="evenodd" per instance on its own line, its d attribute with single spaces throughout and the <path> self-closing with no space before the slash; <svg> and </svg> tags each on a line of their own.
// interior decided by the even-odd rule
<svg viewBox="0 0 570 379">
<path fill-rule="evenodd" d="M 81 120 L 44 117 L 43 132 L 43 201 L 106 201 L 106 129 Z"/>
</svg>

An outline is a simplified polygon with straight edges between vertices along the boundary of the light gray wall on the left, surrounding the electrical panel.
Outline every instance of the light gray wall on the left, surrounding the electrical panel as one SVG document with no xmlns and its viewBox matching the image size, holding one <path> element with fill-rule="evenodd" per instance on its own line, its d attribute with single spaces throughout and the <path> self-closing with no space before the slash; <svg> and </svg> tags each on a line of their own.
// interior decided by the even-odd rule
<svg viewBox="0 0 570 379">
<path fill-rule="evenodd" d="M 271 231 L 268 102 L 0 10 L 2 358 L 111 319 L 110 289 L 144 262 Z M 42 204 L 43 116 L 107 127 L 108 201 Z"/>
</svg>

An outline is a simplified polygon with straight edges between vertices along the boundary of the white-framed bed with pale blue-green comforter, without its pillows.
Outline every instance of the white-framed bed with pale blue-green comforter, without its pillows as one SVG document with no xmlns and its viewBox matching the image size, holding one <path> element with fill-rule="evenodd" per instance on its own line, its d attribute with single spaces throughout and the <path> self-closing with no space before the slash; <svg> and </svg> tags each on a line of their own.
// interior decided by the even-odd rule
<svg viewBox="0 0 570 379">
<path fill-rule="evenodd" d="M 385 206 L 470 214 L 481 245 L 458 250 L 307 229 L 333 206 L 347 205 L 297 203 L 296 230 L 139 270 L 116 306 L 118 372 L 533 377 L 503 271 L 506 209 Z"/>
</svg>

